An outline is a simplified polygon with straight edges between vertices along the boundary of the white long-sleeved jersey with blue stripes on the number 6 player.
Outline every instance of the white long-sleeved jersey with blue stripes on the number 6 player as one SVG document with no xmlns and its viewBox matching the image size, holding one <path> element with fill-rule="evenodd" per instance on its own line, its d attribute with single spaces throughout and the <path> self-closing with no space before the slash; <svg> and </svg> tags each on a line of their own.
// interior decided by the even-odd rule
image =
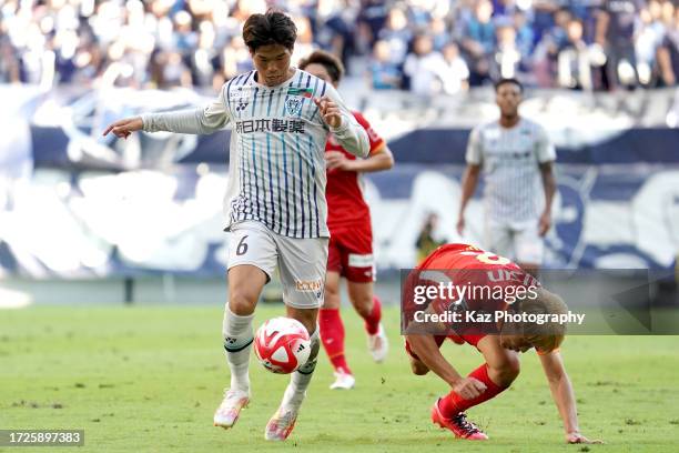
<svg viewBox="0 0 679 453">
<path fill-rule="evenodd" d="M 290 238 L 327 238 L 330 129 L 313 98 L 327 95 L 340 107 L 342 125 L 332 133 L 344 149 L 367 157 L 367 134 L 325 81 L 297 69 L 286 82 L 265 87 L 255 73 L 226 82 L 204 109 L 142 115 L 144 130 L 212 133 L 231 122 L 226 228 L 254 220 Z"/>
</svg>

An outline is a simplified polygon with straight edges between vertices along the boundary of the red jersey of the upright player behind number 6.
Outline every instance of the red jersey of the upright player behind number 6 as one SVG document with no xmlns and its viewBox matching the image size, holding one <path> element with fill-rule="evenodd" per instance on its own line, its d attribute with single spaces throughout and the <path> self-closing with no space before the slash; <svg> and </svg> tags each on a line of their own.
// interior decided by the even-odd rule
<svg viewBox="0 0 679 453">
<path fill-rule="evenodd" d="M 371 123 L 361 113 L 352 113 L 368 134 L 371 142 L 369 153 L 372 154 L 382 147 L 384 140 L 373 130 Z M 337 143 L 333 134 L 328 135 L 327 143 L 325 144 L 325 152 L 328 151 L 340 151 L 347 159 L 356 159 L 354 154 Z M 337 169 L 328 170 L 325 199 L 327 200 L 327 228 L 331 230 L 331 233 L 334 229 L 355 225 L 357 222 L 367 221 L 369 223 L 371 211 L 363 199 L 361 173 Z"/>
</svg>

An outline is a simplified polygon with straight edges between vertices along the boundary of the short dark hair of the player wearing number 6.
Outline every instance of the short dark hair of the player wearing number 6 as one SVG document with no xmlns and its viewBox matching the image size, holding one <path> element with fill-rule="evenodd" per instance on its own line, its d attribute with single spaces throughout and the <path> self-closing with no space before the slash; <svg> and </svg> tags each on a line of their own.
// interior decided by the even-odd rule
<svg viewBox="0 0 679 453">
<path fill-rule="evenodd" d="M 264 14 L 252 14 L 243 24 L 243 41 L 251 51 L 262 46 L 281 44 L 292 50 L 297 28 L 285 13 L 270 9 Z"/>
</svg>

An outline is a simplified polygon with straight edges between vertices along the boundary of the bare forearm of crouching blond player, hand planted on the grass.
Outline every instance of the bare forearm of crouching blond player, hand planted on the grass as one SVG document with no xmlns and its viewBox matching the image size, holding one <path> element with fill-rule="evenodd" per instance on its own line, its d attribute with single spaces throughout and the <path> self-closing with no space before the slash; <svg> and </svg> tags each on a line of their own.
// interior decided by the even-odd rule
<svg viewBox="0 0 679 453">
<path fill-rule="evenodd" d="M 559 415 L 564 421 L 564 431 L 566 432 L 567 443 L 602 443 L 599 440 L 589 440 L 580 434 L 578 426 L 578 412 L 576 407 L 575 394 L 570 379 L 566 373 L 561 354 L 558 351 L 553 351 L 548 354 L 540 355 L 540 362 L 545 375 L 549 382 L 549 390 L 554 402 L 559 410 Z"/>
</svg>

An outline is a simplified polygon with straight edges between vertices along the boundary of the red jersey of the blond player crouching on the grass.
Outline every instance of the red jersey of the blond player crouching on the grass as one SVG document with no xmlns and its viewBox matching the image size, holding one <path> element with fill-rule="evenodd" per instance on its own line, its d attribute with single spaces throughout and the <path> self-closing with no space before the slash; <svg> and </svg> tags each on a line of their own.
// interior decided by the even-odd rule
<svg viewBox="0 0 679 453">
<path fill-rule="evenodd" d="M 445 286 L 445 296 L 436 292 L 426 302 L 414 301 L 414 288 Z M 539 282 L 504 256 L 467 244 L 447 244 L 436 249 L 411 273 L 404 291 L 406 322 L 417 310 L 428 308 L 434 313 L 455 311 L 463 313 L 463 322 L 450 328 L 457 333 L 491 333 L 494 322 L 468 320 L 465 312 L 475 312 L 475 319 L 507 310 L 518 294 L 524 296 L 538 288 Z M 420 294 L 424 296 L 424 294 Z M 413 301 L 412 301 L 413 299 Z M 407 306 L 407 309 L 406 309 Z M 482 325 L 483 324 L 483 325 Z"/>
</svg>

